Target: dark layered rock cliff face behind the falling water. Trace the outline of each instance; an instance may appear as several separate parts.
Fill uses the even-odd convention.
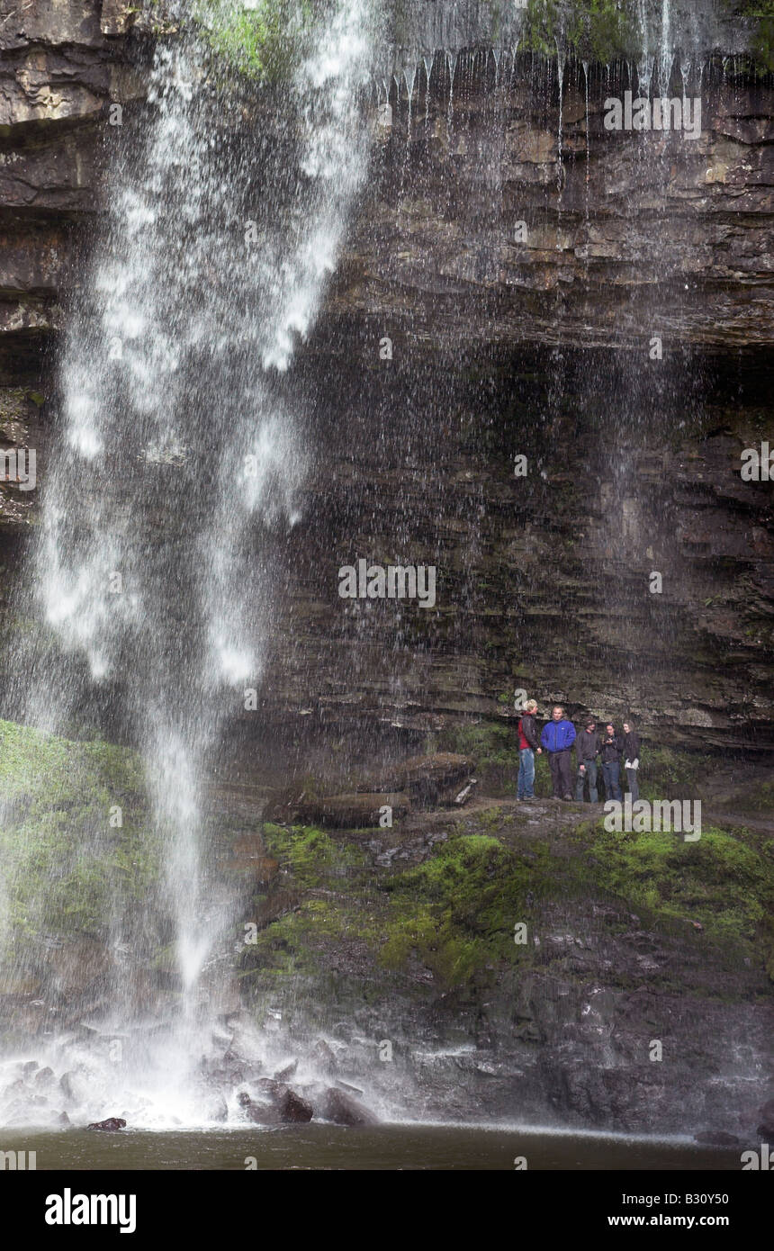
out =
[[[133,18],[83,0],[0,28],[1,429],[38,448],[40,485],[44,349],[99,229],[115,105],[143,108],[151,39]],[[321,728],[431,729],[508,714],[529,687],[634,712],[668,743],[760,751],[771,488],[739,469],[769,433],[770,88],[694,68],[689,139],[604,128],[605,98],[635,86],[625,68],[586,84],[570,64],[560,101],[555,65],[470,54],[451,95],[450,65],[425,63],[410,108],[406,79],[389,116],[383,100],[370,191],[293,384],[315,468],[274,553],[291,642],[263,721],[289,741],[309,709]],[[243,128],[270,124],[250,109]],[[335,403],[315,385],[331,362]],[[36,498],[3,488],[13,560]],[[434,564],[435,608],[340,599],[358,558]]]

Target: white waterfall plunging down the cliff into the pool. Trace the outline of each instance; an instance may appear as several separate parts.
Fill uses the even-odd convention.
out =
[[[261,534],[298,518],[304,455],[275,379],[314,325],[368,170],[370,38],[366,0],[339,0],[270,143],[260,125],[245,139],[189,33],[159,45],[149,113],[111,136],[108,220],[70,317],[30,560],[31,603],[70,663],[64,681],[39,667],[20,719],[61,734],[101,701],[139,746],[181,993],[175,1023],[138,1056],[141,1077],[129,1062],[119,1093],[110,1075],[101,1105],[91,1075],[93,1115],[123,1100],[153,1117],[161,1092],[161,1116],[196,1115],[199,983],[231,921],[208,873],[205,779],[261,681],[274,593]],[[124,918],[110,931],[121,1021]],[[56,1038],[48,1047],[53,1062]]]

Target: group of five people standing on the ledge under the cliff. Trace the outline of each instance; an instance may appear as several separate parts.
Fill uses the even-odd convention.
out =
[[[529,699],[524,716],[519,718],[519,782],[518,799],[534,799],[535,754],[548,754],[551,771],[554,798],[573,798],[571,748],[575,748],[575,801],[583,803],[586,782],[590,803],[598,802],[596,778],[601,776],[608,799],[621,799],[621,763],[626,773],[628,791],[631,803],[639,799],[636,771],[639,769],[640,741],[631,718],[624,722],[624,732],[619,734],[613,722],[608,722],[604,732],[596,729],[594,717],[586,717],[583,729],[576,731],[573,722],[565,717],[564,708],[555,704],[551,719],[538,733],[538,702]]]

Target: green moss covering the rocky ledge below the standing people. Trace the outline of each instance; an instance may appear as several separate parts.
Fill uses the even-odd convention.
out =
[[[656,931],[699,922],[703,941],[725,951],[731,966],[754,957],[774,971],[771,853],[763,836],[705,829],[699,843],[685,843],[671,833],[609,833],[601,822],[559,828],[560,837],[549,824],[549,837],[525,838],[518,816],[493,804],[460,814],[423,863],[374,877],[360,848],[344,839],[268,826],[264,837],[286,872],[313,884],[246,950],[241,976],[325,980],[335,956],[336,967],[366,980],[375,961],[409,986],[416,966],[449,990],[496,981],[539,958],[531,941],[514,942],[514,926],[525,922],[529,933],[556,899],[616,899]]]

